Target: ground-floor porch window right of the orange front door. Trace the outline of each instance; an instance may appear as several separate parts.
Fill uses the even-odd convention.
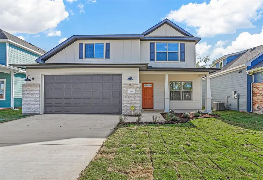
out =
[[[193,82],[170,82],[170,100],[192,100]]]

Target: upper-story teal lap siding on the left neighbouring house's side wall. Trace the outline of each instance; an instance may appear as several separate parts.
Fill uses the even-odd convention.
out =
[[[40,57],[20,47],[9,43],[8,48],[8,64],[32,64],[36,63],[36,59]]]

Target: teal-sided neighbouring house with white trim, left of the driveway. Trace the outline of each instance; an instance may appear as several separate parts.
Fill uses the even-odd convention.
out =
[[[46,51],[0,29],[0,108],[22,107],[26,70],[9,64],[36,63]]]

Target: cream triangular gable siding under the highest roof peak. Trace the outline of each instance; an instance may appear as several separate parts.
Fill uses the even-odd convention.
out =
[[[173,29],[168,24],[164,24],[155,31],[151,32],[147,36],[184,36],[180,32]]]

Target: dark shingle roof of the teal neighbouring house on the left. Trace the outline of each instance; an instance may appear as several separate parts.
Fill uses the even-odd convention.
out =
[[[39,52],[41,54],[45,54],[46,53],[46,51],[44,49],[41,49],[41,48],[39,48],[37,46],[34,46],[34,45],[32,45],[32,44],[20,39],[20,38],[17,38],[16,36],[11,35],[10,33],[5,32],[2,29],[0,29],[0,39],[9,39],[11,41],[14,41],[14,42],[16,42],[16,43],[18,43],[18,44],[20,44],[22,46],[25,46],[25,47],[27,47],[29,49],[32,49],[32,50],[34,50],[36,52]]]

